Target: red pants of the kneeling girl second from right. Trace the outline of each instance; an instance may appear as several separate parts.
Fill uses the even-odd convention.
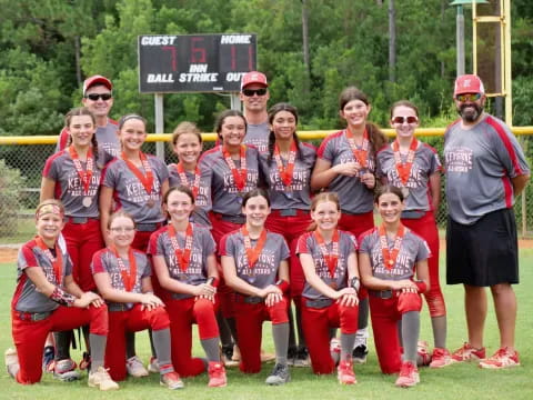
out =
[[[333,300],[330,307],[310,308],[302,298],[302,324],[314,373],[331,373],[335,364],[330,354],[330,328],[341,328],[341,333],[358,331],[359,307],[340,306]]]

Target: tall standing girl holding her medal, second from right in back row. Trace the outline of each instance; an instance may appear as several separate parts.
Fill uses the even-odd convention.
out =
[[[366,94],[358,88],[342,91],[339,113],[346,121],[346,129],[324,139],[311,177],[311,189],[328,188],[339,194],[342,211],[339,228],[355,237],[374,227],[375,153],[386,143],[380,129],[366,120],[371,109]],[[364,288],[360,300],[355,362],[366,359],[369,306]]]

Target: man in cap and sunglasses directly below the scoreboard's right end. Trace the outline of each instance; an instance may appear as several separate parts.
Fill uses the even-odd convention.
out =
[[[253,144],[261,154],[269,152],[269,113],[266,102],[270,99],[269,83],[264,73],[251,71],[241,80],[241,101],[244,104],[244,117],[248,130],[245,144]]]

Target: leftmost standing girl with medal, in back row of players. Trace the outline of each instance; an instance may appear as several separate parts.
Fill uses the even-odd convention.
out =
[[[100,231],[98,196],[107,152],[99,152],[95,119],[88,108],[70,110],[64,118],[69,133],[67,148],[50,157],[42,171],[40,200],[59,199],[64,204],[67,223],[62,236],[73,264],[74,281],[84,291],[95,288],[91,259],[103,247]],[[84,330],[86,341],[88,330]],[[70,358],[72,332],[57,332],[54,376],[61,380],[79,378],[76,362]]]

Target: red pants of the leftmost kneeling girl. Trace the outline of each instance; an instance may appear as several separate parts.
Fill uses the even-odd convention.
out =
[[[19,356],[20,370],[17,382],[23,384],[36,383],[42,374],[42,349],[50,332],[71,330],[90,324],[90,332],[99,336],[108,334],[108,308],[63,307],[53,311],[50,317],[41,321],[20,319],[18,311],[11,312],[13,342]]]

